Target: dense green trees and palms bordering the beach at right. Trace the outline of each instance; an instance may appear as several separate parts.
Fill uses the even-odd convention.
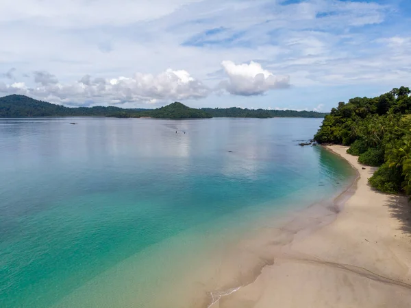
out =
[[[340,102],[314,136],[319,143],[350,145],[364,165],[379,167],[369,182],[387,193],[411,194],[411,97],[401,86],[379,97]]]

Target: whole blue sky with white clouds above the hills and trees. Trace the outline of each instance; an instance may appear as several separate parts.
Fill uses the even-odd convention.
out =
[[[411,86],[410,0],[2,0],[0,95],[328,111]]]

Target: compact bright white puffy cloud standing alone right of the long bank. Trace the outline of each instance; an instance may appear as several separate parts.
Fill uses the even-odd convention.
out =
[[[234,95],[262,95],[270,90],[290,86],[288,76],[275,76],[257,62],[235,64],[226,60],[221,65],[228,80],[221,82],[219,87]]]

